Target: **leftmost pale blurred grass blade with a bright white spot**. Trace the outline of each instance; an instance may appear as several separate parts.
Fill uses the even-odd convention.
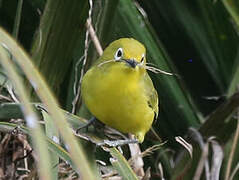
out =
[[[8,77],[12,80],[15,88],[18,92],[19,99],[23,102],[22,111],[27,121],[34,142],[35,149],[39,155],[39,175],[41,179],[52,179],[49,163],[49,154],[47,151],[46,142],[43,139],[43,133],[38,124],[38,117],[29,104],[29,97],[26,94],[26,90],[23,87],[23,82],[16,73],[16,69],[12,61],[6,55],[6,51],[0,46],[0,62],[4,69],[8,72]]]

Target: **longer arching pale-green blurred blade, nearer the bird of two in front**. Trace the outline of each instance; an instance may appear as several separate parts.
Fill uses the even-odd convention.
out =
[[[60,134],[63,137],[64,142],[69,147],[73,162],[78,168],[78,172],[82,179],[94,179],[94,175],[91,172],[88,161],[83,153],[80,144],[76,141],[76,138],[72,134],[72,129],[69,127],[64,115],[57,108],[57,102],[50,90],[46,86],[44,80],[40,76],[39,72],[34,67],[32,61],[25,53],[23,49],[2,29],[0,29],[0,41],[4,43],[16,57],[18,65],[22,68],[26,77],[34,87],[37,95],[41,101],[45,104],[47,110],[52,114],[52,119],[58,128]]]

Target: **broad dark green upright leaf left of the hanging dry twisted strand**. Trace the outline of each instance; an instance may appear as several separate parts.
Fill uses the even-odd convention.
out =
[[[75,48],[81,48],[77,41],[84,32],[87,10],[88,0],[46,2],[31,52],[56,97],[64,90],[60,85],[68,79]]]

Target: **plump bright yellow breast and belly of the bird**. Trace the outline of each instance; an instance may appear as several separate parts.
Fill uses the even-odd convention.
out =
[[[91,113],[110,127],[135,134],[140,142],[154,119],[143,73],[117,63],[110,68],[91,68],[82,81],[82,97]]]

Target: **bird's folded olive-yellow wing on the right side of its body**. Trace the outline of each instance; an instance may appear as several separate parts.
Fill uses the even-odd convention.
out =
[[[150,79],[148,73],[145,73],[144,84],[145,84],[144,88],[145,88],[145,93],[148,100],[148,105],[154,111],[155,119],[156,119],[158,117],[158,111],[159,111],[158,94],[157,94],[157,91],[154,89],[153,82]]]

